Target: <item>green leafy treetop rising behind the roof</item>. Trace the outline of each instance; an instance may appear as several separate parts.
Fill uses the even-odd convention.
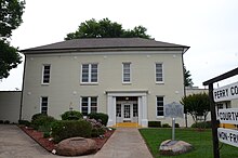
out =
[[[147,38],[147,29],[143,26],[135,26],[134,29],[124,30],[121,24],[110,22],[108,18],[103,18],[96,22],[94,18],[80,24],[78,30],[67,35],[65,40],[78,38]]]

